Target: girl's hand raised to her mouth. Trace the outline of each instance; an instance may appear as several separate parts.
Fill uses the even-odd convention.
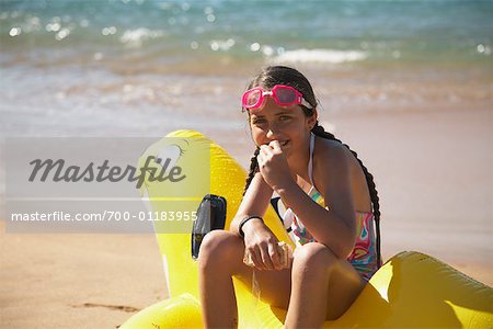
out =
[[[256,160],[262,177],[274,191],[293,182],[286,156],[283,154],[278,140],[262,145]]]

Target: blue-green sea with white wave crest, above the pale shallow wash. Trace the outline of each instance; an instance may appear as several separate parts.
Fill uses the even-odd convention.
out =
[[[0,41],[4,65],[117,60],[130,72],[197,59],[481,63],[492,14],[492,1],[2,0]]]

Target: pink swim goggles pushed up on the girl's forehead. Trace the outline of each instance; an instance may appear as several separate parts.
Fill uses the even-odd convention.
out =
[[[311,109],[301,92],[290,86],[276,84],[271,90],[264,90],[261,87],[252,88],[243,93],[241,103],[243,109],[253,110],[259,109],[264,103],[265,97],[272,97],[273,100],[280,106],[290,106],[301,104]]]

